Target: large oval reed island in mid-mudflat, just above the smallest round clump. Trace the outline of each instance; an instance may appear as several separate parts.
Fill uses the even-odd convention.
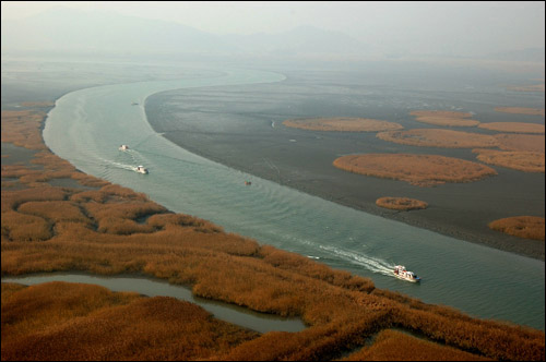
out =
[[[402,180],[419,186],[472,182],[497,174],[490,167],[438,155],[349,155],[335,159],[333,165],[349,172]]]

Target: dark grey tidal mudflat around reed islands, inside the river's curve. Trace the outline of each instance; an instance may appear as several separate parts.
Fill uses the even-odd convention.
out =
[[[439,155],[476,162],[476,154],[472,149],[399,145],[378,140],[373,132],[309,131],[282,124],[288,119],[346,117],[397,122],[406,130],[438,129],[417,122],[411,114],[423,109],[470,112],[472,119],[484,123],[517,119],[544,124],[539,114],[495,110],[508,104],[543,107],[544,93],[507,92],[499,86],[506,80],[476,74],[442,74],[432,80],[434,74],[427,77],[424,72],[412,76],[402,71],[390,76],[366,71],[283,72],[287,79],[273,84],[153,95],[146,100],[147,120],[166,138],[232,168],[366,213],[544,260],[543,241],[514,238],[487,227],[510,216],[544,217],[543,172],[494,167],[498,174],[480,181],[419,188],[339,170],[332,162],[341,156],[367,153]],[[476,126],[460,126],[458,131],[498,134]],[[422,200],[429,207],[411,213],[385,210],[376,205],[384,195]]]

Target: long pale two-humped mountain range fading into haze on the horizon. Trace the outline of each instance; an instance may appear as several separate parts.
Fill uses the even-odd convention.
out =
[[[363,56],[369,47],[339,32],[312,26],[278,34],[221,36],[178,23],[105,11],[55,8],[20,20],[2,21],[2,53],[199,53],[216,56]]]

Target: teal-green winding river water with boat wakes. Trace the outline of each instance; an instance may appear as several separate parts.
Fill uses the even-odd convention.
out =
[[[174,212],[370,277],[379,288],[544,329],[544,262],[357,212],[213,162],[156,134],[142,108],[157,92],[283,79],[230,70],[215,77],[73,92],[50,111],[44,138],[82,171],[144,192]],[[121,144],[131,149],[118,150]],[[136,173],[139,165],[150,173]],[[395,264],[417,273],[420,285],[395,279]]]

